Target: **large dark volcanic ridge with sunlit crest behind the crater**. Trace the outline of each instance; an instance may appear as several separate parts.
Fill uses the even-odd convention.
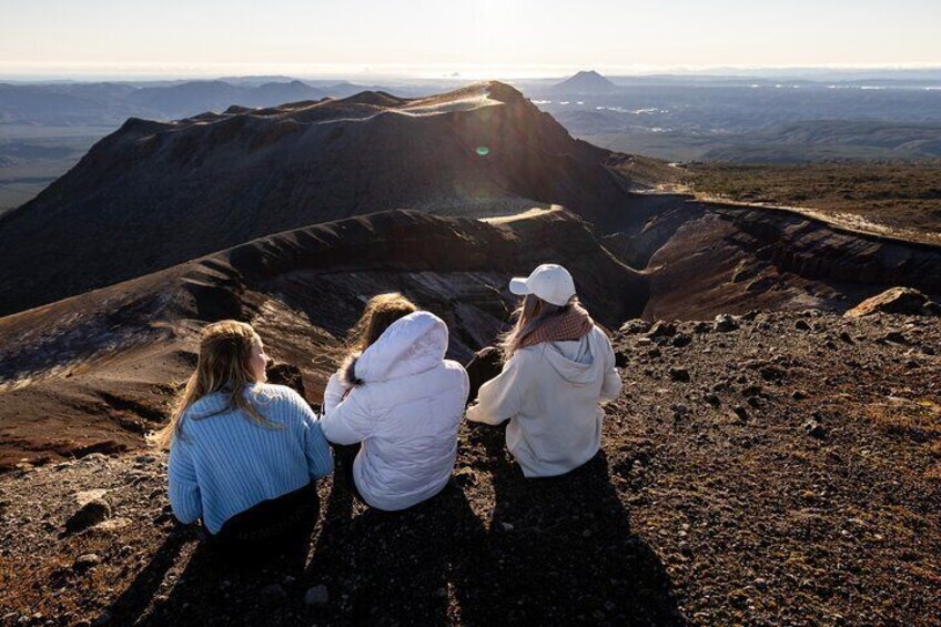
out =
[[[191,89],[233,93],[204,83],[180,102]],[[0,311],[389,208],[480,215],[558,203],[595,219],[627,202],[609,154],[497,82],[132,119],[0,218]]]

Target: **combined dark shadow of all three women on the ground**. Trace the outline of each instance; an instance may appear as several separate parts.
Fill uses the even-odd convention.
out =
[[[408,512],[366,508],[337,473],[321,486],[328,494],[306,566],[273,558],[234,568],[200,545],[152,603],[192,539],[171,535],[110,614],[120,624],[203,626],[685,623],[664,565],[630,532],[604,454],[534,481],[513,464],[502,428],[471,426],[468,439],[462,455],[475,478]],[[307,606],[316,585],[330,599]]]

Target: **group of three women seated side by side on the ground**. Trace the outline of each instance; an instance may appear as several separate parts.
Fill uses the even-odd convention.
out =
[[[515,324],[478,354],[502,358],[502,371],[469,407],[467,372],[445,358],[447,326],[399,294],[367,303],[321,415],[290,387],[266,383],[269,358],[249,324],[208,325],[196,370],[159,434],[175,516],[202,519],[225,553],[293,546],[318,515],[316,481],[333,472],[327,442],[363,503],[406,509],[447,485],[465,416],[509,421],[506,445],[526,477],[585,464],[600,446],[599,404],[621,387],[611,344],[564,267],[540,265],[509,289],[523,297]]]

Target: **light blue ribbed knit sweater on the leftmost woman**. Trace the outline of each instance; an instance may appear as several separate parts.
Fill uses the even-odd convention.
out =
[[[171,444],[168,469],[170,505],[182,523],[202,518],[219,533],[235,514],[333,471],[321,426],[300,394],[255,384],[245,395],[282,428],[261,426],[240,411],[206,416],[225,406],[223,394],[193,403]]]

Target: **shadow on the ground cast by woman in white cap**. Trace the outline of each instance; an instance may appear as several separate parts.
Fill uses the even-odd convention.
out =
[[[525,478],[505,427],[471,425],[493,482],[486,542],[452,574],[465,625],[686,625],[657,554],[599,452],[570,473]]]

